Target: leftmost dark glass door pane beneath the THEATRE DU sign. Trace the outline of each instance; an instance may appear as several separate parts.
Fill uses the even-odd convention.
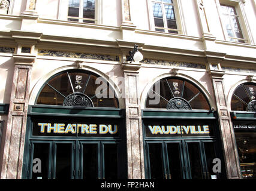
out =
[[[49,143],[34,143],[34,159],[39,159],[40,162],[35,162],[32,166],[35,170],[40,170],[41,165],[41,172],[35,172],[32,169],[32,179],[47,179],[49,174],[49,153],[50,153],[50,144]],[[35,166],[34,166],[35,165]]]

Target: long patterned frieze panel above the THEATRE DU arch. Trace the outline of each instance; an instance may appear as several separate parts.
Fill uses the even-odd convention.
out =
[[[109,60],[120,61],[119,56],[110,56],[103,54],[89,54],[89,53],[71,53],[66,51],[52,51],[52,50],[38,50],[38,56],[53,56],[53,57],[68,57],[68,58],[85,58],[92,60]]]

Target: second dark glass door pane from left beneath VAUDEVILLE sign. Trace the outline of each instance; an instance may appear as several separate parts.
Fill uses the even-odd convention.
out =
[[[169,162],[169,178],[181,179],[182,178],[182,164],[180,158],[180,146],[179,143],[168,143],[168,162]]]

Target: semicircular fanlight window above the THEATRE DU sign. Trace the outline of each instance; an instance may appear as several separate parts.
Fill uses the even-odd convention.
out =
[[[95,73],[81,72],[81,70],[68,70],[50,78],[44,84],[36,103],[61,106],[119,107],[115,91],[108,82]]]

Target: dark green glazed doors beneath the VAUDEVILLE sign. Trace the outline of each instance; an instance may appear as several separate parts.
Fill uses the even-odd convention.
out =
[[[146,141],[147,175],[152,179],[214,178],[214,141]]]

